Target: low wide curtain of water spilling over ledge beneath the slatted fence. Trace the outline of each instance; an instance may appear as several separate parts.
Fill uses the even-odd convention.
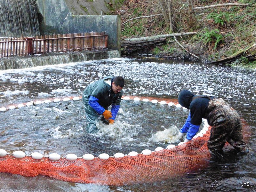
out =
[[[99,52],[74,52],[66,54],[52,54],[48,56],[20,57],[0,60],[0,70],[30,68],[36,66],[57,65],[72,62],[89,60],[101,60],[108,58],[118,58],[120,54],[117,50]]]

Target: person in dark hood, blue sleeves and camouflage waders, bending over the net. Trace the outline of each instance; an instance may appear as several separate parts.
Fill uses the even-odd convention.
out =
[[[207,143],[211,151],[220,151],[228,141],[238,152],[248,152],[249,148],[242,135],[242,123],[238,113],[221,98],[194,95],[188,90],[180,92],[178,101],[190,110],[186,123],[180,129],[181,139],[187,133],[185,142],[191,140],[199,130],[202,118],[212,126]]]

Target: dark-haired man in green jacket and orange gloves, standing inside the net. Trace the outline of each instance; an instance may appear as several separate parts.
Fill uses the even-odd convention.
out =
[[[83,104],[86,115],[86,131],[97,131],[96,122],[99,117],[113,124],[123,95],[124,78],[121,76],[108,76],[94,81],[85,88],[83,93]],[[111,111],[108,107],[111,106]]]

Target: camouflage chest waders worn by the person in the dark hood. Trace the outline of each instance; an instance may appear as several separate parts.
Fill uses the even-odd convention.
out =
[[[238,152],[245,152],[249,149],[243,140],[242,123],[236,110],[221,98],[202,97],[207,97],[210,100],[207,113],[204,114],[204,118],[212,126],[208,148],[211,151],[219,151],[228,142]]]

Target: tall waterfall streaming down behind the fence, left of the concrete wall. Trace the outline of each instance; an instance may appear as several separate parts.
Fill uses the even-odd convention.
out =
[[[40,35],[35,0],[0,0],[0,36]]]

